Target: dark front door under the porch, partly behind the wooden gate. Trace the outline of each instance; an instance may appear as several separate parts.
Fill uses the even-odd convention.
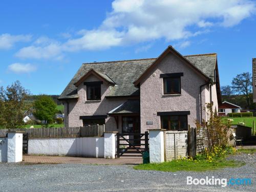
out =
[[[138,134],[130,135],[129,139],[132,143],[140,145],[140,116],[123,116],[122,117],[122,133]]]

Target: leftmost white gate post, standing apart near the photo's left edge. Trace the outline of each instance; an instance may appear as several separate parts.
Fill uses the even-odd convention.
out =
[[[23,133],[20,131],[8,132],[7,162],[16,163],[22,161]]]

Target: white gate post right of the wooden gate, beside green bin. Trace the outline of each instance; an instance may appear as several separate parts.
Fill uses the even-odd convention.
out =
[[[164,131],[148,130],[150,132],[150,162],[164,162]]]

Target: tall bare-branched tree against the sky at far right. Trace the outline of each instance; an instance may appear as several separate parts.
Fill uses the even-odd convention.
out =
[[[246,97],[247,108],[250,108],[250,97],[252,88],[252,76],[249,72],[238,74],[232,80],[232,89],[235,93],[243,94]]]

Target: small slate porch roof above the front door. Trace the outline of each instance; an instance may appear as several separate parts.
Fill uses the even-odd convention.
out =
[[[127,100],[108,113],[108,115],[114,114],[127,114],[127,113],[140,113],[140,101],[139,100]]]

